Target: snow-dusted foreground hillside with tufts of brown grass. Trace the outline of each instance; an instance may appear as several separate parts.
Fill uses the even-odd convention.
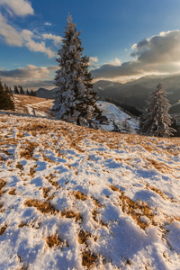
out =
[[[0,269],[180,269],[180,139],[0,115]]]

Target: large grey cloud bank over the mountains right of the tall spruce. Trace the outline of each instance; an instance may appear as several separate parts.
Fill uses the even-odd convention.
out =
[[[180,31],[164,31],[131,47],[129,62],[105,64],[92,71],[94,78],[172,74],[180,71]],[[121,63],[121,62],[120,62]]]

